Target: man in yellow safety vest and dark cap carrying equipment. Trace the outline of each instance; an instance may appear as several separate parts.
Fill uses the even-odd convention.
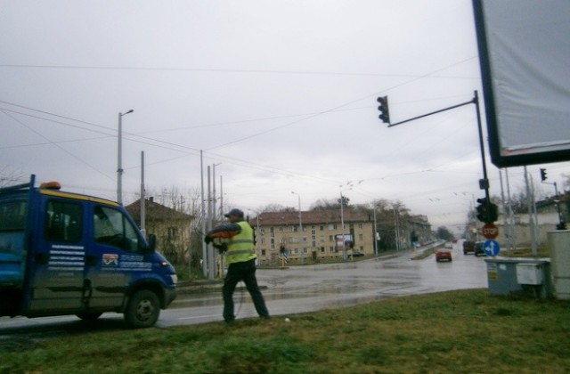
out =
[[[256,235],[253,227],[244,220],[240,209],[232,209],[225,215],[229,224],[221,224],[206,234],[204,241],[210,242],[221,239],[224,243],[215,243],[215,247],[225,252],[225,263],[228,272],[225,274],[224,288],[224,321],[235,320],[233,314],[233,291],[240,280],[246,284],[249,295],[256,306],[257,314],[268,319],[269,312],[265,306],[265,299],[259,290],[256,280]]]

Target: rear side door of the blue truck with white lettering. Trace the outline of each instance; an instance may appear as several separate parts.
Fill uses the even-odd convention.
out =
[[[75,313],[85,301],[85,204],[41,195],[28,315]]]

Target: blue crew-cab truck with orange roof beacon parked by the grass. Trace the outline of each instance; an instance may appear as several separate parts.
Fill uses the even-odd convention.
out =
[[[176,272],[117,202],[59,183],[0,188],[0,316],[123,313],[153,326],[176,296]]]

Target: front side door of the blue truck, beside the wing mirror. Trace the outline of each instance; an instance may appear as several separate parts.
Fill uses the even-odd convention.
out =
[[[122,210],[94,204],[93,244],[87,251],[85,278],[93,289],[91,307],[121,306],[129,284],[151,272],[141,244],[138,230]]]

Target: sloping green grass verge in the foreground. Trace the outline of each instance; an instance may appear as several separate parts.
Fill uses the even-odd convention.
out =
[[[398,297],[290,322],[275,316],[12,346],[0,349],[0,372],[563,373],[569,307],[487,289]]]

